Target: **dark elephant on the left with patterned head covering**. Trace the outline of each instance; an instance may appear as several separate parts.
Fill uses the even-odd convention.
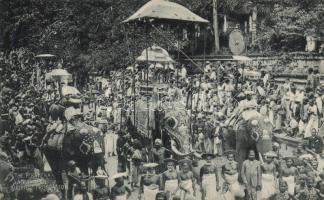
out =
[[[104,145],[102,133],[98,128],[81,122],[73,127],[65,121],[65,108],[61,105],[50,107],[53,120],[61,119],[62,126],[54,132],[48,132],[43,138],[42,150],[52,169],[53,176],[60,188],[64,185],[62,173],[67,172],[67,163],[74,160],[81,173],[88,175],[89,167],[96,172],[98,166],[104,166]],[[64,190],[61,190],[64,194]]]

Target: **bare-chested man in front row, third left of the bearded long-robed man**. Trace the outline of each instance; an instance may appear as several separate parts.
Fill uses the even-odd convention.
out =
[[[193,172],[190,170],[191,160],[182,159],[179,161],[180,171],[178,173],[180,199],[194,200],[196,199],[195,178]]]

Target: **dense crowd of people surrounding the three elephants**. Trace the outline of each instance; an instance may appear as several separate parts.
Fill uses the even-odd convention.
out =
[[[103,162],[90,173],[95,180],[91,190],[87,182],[78,182],[85,176],[80,163],[72,159],[67,162],[69,198],[121,200],[134,194],[144,200],[323,198],[320,130],[324,91],[316,67],[309,67],[306,83],[298,85],[289,78],[283,84],[277,83],[274,74],[263,70],[262,65],[256,67],[260,75],[251,80],[242,76],[248,65],[236,62],[207,61],[198,75],[188,75],[184,65],[151,64],[147,69],[136,65],[111,73],[100,87],[97,82],[91,83],[86,92],[89,104],[82,103],[82,112],[66,108],[68,112],[53,118],[51,106],[59,98],[48,98],[52,90],[45,87],[46,71],[40,65],[24,50],[0,58],[0,157],[14,171],[1,180],[3,195],[8,195],[5,185],[13,184],[15,171],[22,166],[32,166],[34,177],[52,171],[43,154],[44,138],[53,133],[68,134],[89,124],[96,126],[94,132],[100,132],[102,137],[103,150],[95,145],[91,148],[98,155],[95,159],[101,162],[103,158]],[[167,93],[153,109],[163,110],[167,102],[185,105],[190,116],[187,134],[193,136],[191,148],[200,157],[190,154],[176,159],[177,155],[164,146],[162,137],[151,135],[147,140],[130,123],[141,86],[157,83],[167,85]],[[287,152],[280,148],[283,144],[273,141],[272,151],[263,157],[251,150],[242,165],[236,162],[235,149],[226,147],[223,130],[233,125],[233,116],[247,110],[256,110],[269,119],[274,134],[300,141],[296,151]],[[87,133],[84,129],[76,132]],[[152,140],[153,145],[147,142]],[[80,145],[82,151],[87,148],[85,143]],[[117,156],[116,174],[105,167],[111,156]],[[110,175],[114,180],[111,187],[107,181]],[[48,200],[61,196],[53,192],[27,192],[9,196]]]

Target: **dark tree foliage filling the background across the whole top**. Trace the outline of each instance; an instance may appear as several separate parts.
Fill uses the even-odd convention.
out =
[[[35,53],[53,53],[65,67],[76,71],[107,72],[133,63],[135,56],[156,43],[170,51],[179,40],[177,27],[163,34],[144,25],[121,22],[148,0],[0,0],[0,25],[4,48],[28,48]],[[198,15],[212,20],[212,1],[175,0]],[[305,33],[323,36],[322,0],[221,0],[222,12],[258,8],[255,46],[260,51],[300,50]],[[2,21],[1,21],[2,20]],[[165,35],[165,36],[161,36]],[[170,41],[165,38],[169,38]],[[179,40],[185,48],[188,41]],[[303,39],[304,41],[304,39]]]

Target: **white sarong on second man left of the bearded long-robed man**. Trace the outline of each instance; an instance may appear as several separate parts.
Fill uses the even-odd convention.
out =
[[[216,191],[216,175],[204,174],[202,178],[202,188],[205,191],[205,200],[220,200],[221,195]]]

